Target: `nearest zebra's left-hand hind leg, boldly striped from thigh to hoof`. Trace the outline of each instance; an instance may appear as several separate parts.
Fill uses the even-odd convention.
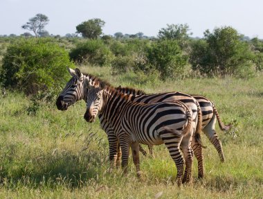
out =
[[[174,133],[174,131],[163,130],[163,132],[159,132],[161,139],[163,139],[163,143],[169,150],[169,153],[174,160],[174,163],[177,168],[177,175],[176,181],[178,186],[182,183],[182,176],[183,176],[183,166],[184,166],[184,159],[183,155],[181,155],[180,151],[180,144],[183,139],[182,135],[178,135]]]

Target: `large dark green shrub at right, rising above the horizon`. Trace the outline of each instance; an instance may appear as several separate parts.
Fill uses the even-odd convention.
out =
[[[253,74],[253,53],[234,28],[215,28],[213,33],[206,31],[204,36],[205,42],[200,40],[192,46],[190,63],[193,69],[209,75]]]

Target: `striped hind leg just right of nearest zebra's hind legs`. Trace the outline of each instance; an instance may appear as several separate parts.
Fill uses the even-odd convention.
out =
[[[198,178],[203,178],[203,148],[197,143],[196,139],[192,139],[192,150],[194,150],[194,156],[197,157],[198,164]]]

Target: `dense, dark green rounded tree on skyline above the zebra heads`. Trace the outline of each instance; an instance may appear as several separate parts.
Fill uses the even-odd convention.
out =
[[[89,19],[76,26],[76,33],[81,33],[82,37],[97,39],[102,34],[102,26],[104,25],[105,21],[101,19]]]

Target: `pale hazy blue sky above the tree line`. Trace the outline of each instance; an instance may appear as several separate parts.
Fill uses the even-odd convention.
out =
[[[0,35],[28,32],[21,26],[37,13],[48,17],[45,29],[53,35],[75,33],[78,24],[100,18],[106,22],[106,35],[156,36],[167,24],[188,24],[193,37],[203,37],[206,29],[232,26],[263,39],[262,0],[0,0]]]

